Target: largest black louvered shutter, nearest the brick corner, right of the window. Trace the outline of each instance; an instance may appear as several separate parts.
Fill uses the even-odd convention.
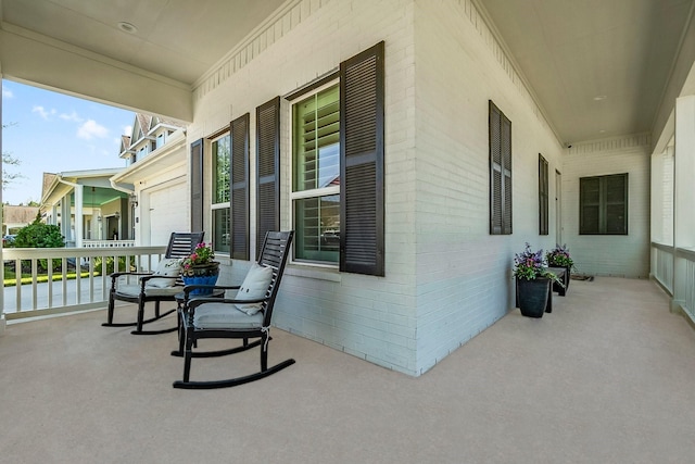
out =
[[[340,271],[383,276],[383,42],[340,64]]]

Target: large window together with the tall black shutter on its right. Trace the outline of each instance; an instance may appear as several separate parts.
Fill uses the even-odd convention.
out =
[[[384,274],[383,91],[380,42],[292,96],[295,261]]]

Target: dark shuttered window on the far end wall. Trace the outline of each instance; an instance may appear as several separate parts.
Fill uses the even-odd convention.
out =
[[[579,179],[579,233],[628,235],[628,173]]]

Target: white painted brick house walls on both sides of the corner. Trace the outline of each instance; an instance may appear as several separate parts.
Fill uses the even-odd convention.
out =
[[[278,327],[420,375],[513,306],[511,261],[538,235],[538,153],[561,148],[469,0],[298,0],[256,29],[194,90],[189,145],[276,95],[386,42],[386,277],[290,263]],[[488,101],[513,123],[514,235],[489,234]],[[280,221],[291,228],[290,102],[280,108]],[[255,179],[255,117],[250,122]],[[251,185],[251,218],[255,192]],[[554,184],[551,184],[551,197]],[[553,198],[553,197],[552,197]],[[549,224],[555,224],[551,210]],[[205,214],[210,230],[210,212]],[[252,240],[255,240],[253,230]],[[251,250],[255,243],[251,243]],[[239,281],[248,263],[225,278]]]

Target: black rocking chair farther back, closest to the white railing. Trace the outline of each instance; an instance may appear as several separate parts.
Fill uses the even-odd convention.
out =
[[[205,233],[172,233],[169,244],[166,248],[164,260],[160,262],[160,268],[154,273],[113,273],[111,274],[111,291],[109,292],[108,318],[104,327],[132,327],[136,335],[153,335],[174,331],[177,327],[164,330],[142,330],[142,325],[157,321],[174,311],[160,313],[160,302],[176,301],[175,296],[184,290],[179,276],[178,260],[181,260],[195,250],[198,243],[203,241]],[[168,267],[168,268],[167,268]],[[118,280],[124,276],[140,276],[137,285],[119,285]],[[113,313],[115,301],[127,301],[138,305],[138,319],[135,323],[114,323]],[[154,317],[144,318],[144,303],[154,302]]]

